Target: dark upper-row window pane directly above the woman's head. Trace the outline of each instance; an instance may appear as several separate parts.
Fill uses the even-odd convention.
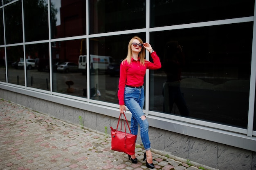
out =
[[[146,0],[90,0],[90,34],[146,27]]]

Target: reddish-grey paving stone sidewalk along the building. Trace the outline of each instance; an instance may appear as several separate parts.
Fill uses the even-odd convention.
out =
[[[1,170],[145,170],[145,150],[137,164],[111,150],[108,134],[91,132],[47,114],[0,100]],[[166,157],[167,156],[167,157]],[[198,170],[153,150],[155,170]],[[207,169],[207,168],[202,168]]]

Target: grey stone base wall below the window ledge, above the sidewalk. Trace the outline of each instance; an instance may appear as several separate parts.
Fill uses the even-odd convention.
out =
[[[0,98],[86,128],[110,134],[118,119],[51,101],[0,89]],[[79,119],[80,118],[82,119]],[[107,127],[107,128],[105,128]],[[189,159],[220,170],[256,170],[256,152],[178,134],[162,129],[149,129],[151,148],[175,157]],[[138,135],[138,144],[141,144]],[[255,146],[256,147],[256,146]]]

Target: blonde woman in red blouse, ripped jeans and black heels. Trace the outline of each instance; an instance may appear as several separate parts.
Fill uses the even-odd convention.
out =
[[[153,58],[153,63],[145,60],[145,49],[150,52]],[[128,44],[128,54],[120,65],[119,79],[119,110],[120,113],[126,112],[126,107],[132,113],[130,130],[132,134],[138,134],[138,124],[140,127],[141,141],[146,152],[146,166],[154,168],[152,154],[150,151],[150,141],[148,136],[148,121],[142,112],[144,106],[144,76],[146,69],[159,69],[161,63],[156,52],[153,51],[151,45],[147,42],[143,43],[141,38],[135,36]],[[128,155],[132,163],[137,163],[137,158],[134,155]]]

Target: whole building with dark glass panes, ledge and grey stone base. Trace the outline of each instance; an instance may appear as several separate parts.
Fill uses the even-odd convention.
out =
[[[119,71],[102,74],[94,67],[100,63],[87,57],[85,74],[62,74],[57,63],[111,56],[118,70],[137,35],[150,42],[163,66],[147,72],[144,83],[152,148],[213,168],[255,170],[255,0],[43,1],[1,1],[0,98],[76,125],[81,116],[86,128],[107,127],[110,134],[119,116]],[[177,75],[189,116],[171,109],[164,92],[175,72],[167,52],[177,49],[173,42],[184,54]],[[43,69],[12,65],[27,58],[44,59]],[[68,81],[74,85],[67,89]],[[130,120],[129,111],[126,116]]]

